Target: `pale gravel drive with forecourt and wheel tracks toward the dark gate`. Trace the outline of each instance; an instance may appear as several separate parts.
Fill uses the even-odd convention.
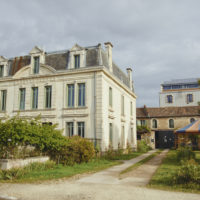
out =
[[[138,161],[138,158],[126,161],[121,166],[130,166]],[[157,161],[156,158],[158,159]],[[162,159],[162,156],[156,158],[153,159],[154,161],[151,164],[143,165],[149,168],[151,173],[155,170],[155,167],[152,167],[154,162],[157,164]],[[136,187],[132,183],[133,179],[131,181],[127,179],[129,176],[136,178],[134,174],[129,174],[128,177],[124,176],[122,180],[118,179],[119,170],[122,168],[115,166],[102,172],[86,175],[86,177],[82,177],[79,180],[58,180],[42,184],[0,184],[0,195],[14,196],[20,200],[111,200],[113,198],[115,200],[200,199],[200,195],[198,194]],[[139,168],[137,169],[138,173],[143,174],[144,171],[142,170],[144,169],[142,169],[142,166]],[[103,178],[101,178],[101,175]]]

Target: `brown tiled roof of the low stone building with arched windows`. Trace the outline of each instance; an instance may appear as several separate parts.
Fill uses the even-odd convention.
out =
[[[187,117],[200,116],[200,106],[185,106],[185,107],[162,107],[137,108],[137,118],[161,118],[161,117]]]

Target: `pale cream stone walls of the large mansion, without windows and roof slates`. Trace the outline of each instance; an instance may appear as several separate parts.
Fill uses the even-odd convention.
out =
[[[109,50],[103,51],[107,57],[109,57],[107,53],[112,51],[109,44],[107,43]],[[97,47],[97,52],[100,52],[98,48],[101,47]],[[77,135],[78,122],[84,122],[84,137],[96,141],[102,151],[107,149],[109,144],[116,149],[118,143],[121,145],[124,143],[122,146],[125,148],[127,142],[136,148],[136,96],[132,90],[132,78],[130,78],[132,73],[129,71],[129,77],[126,75],[130,80],[130,87],[128,87],[114,76],[112,66],[109,67],[112,65],[110,61],[108,67],[104,66],[103,62],[101,65],[88,67],[86,63],[89,62],[89,58],[87,57],[86,60],[86,51],[87,49],[75,45],[68,52],[67,70],[57,70],[46,63],[44,51],[36,47],[29,54],[30,63],[21,67],[13,75],[9,75],[7,60],[0,57],[0,65],[4,66],[4,76],[0,78],[0,92],[6,90],[6,108],[0,111],[0,118],[12,117],[17,113],[24,118],[41,115],[43,122],[57,123],[58,128],[63,130],[63,135],[67,134],[67,122],[73,122],[73,135]],[[73,68],[74,55],[80,55],[78,69]],[[33,73],[35,56],[40,58],[38,74]],[[56,62],[54,64],[56,65]],[[85,85],[83,106],[78,105],[80,83]],[[69,84],[74,85],[73,107],[67,104]],[[50,108],[45,107],[46,86],[52,88]],[[37,109],[32,108],[33,87],[38,88]],[[19,106],[20,88],[26,89],[23,110]],[[112,88],[112,106],[109,105],[109,88]],[[124,113],[121,107],[122,96],[124,96]],[[112,124],[112,137],[110,137],[110,124]]]

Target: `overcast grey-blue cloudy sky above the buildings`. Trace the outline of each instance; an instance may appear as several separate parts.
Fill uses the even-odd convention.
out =
[[[159,106],[160,84],[197,78],[199,0],[0,0],[0,55],[112,42],[113,59],[133,69],[137,106]]]

